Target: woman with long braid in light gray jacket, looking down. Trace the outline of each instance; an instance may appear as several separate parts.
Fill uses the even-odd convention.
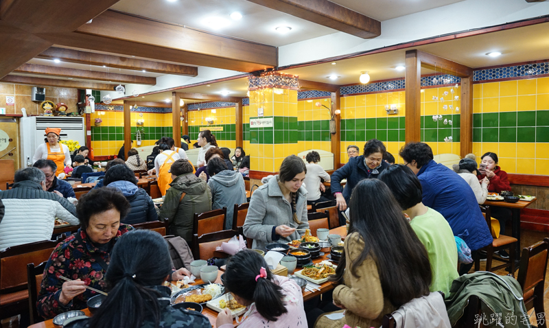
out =
[[[252,248],[291,242],[300,238],[296,229],[309,229],[307,190],[302,186],[306,173],[303,160],[290,155],[280,173],[264,178],[264,185],[254,191],[243,227],[244,235],[253,239]]]

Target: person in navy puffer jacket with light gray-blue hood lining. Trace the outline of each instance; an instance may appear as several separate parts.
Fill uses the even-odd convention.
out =
[[[130,202],[130,212],[122,218],[124,224],[137,224],[159,220],[152,199],[143,188],[137,187],[137,178],[126,165],[115,165],[105,174],[104,185],[122,191]]]

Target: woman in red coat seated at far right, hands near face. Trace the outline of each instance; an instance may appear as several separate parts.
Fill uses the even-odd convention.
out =
[[[497,192],[498,194],[502,191],[510,191],[511,184],[507,178],[507,172],[502,171],[498,166],[498,155],[493,152],[487,152],[480,157],[480,160],[480,166],[478,167],[480,174],[478,174],[477,178],[478,180],[482,180],[484,177],[487,177],[490,180],[488,191]],[[505,224],[513,218],[511,210],[504,207],[492,206],[491,215],[500,221],[500,234],[505,235]],[[505,250],[500,250],[499,255],[504,259],[509,258]]]

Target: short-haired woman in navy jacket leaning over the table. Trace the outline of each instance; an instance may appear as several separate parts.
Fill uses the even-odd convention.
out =
[[[364,144],[364,154],[349,158],[347,164],[331,175],[331,192],[340,211],[347,209],[351,192],[360,180],[375,179],[389,166],[383,160],[384,154],[385,145],[377,139],[371,139]],[[340,184],[343,179],[347,179],[345,189]]]

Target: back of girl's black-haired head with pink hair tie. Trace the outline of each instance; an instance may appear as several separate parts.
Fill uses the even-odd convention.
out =
[[[266,278],[256,277],[266,269]],[[237,294],[247,301],[255,302],[257,312],[270,321],[288,312],[282,301],[282,288],[272,282],[265,259],[253,250],[242,250],[229,259],[223,284],[229,292]]]

